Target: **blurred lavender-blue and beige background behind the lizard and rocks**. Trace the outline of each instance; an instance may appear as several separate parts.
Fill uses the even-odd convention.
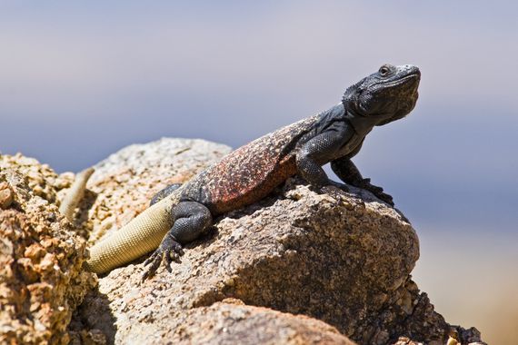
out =
[[[0,151],[65,172],[163,136],[238,147],[417,64],[415,110],[355,162],[413,222],[436,310],[517,343],[517,4],[0,0]]]

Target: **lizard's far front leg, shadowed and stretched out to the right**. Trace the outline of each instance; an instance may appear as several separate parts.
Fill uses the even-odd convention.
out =
[[[382,187],[371,184],[371,179],[364,179],[356,165],[348,157],[342,157],[331,162],[331,169],[336,173],[336,176],[345,183],[351,184],[354,187],[362,188],[372,192],[378,199],[393,206],[393,198],[391,195],[384,192]]]

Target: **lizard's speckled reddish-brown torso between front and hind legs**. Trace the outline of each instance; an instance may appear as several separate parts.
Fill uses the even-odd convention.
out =
[[[183,199],[204,203],[213,214],[263,199],[296,173],[295,146],[318,115],[284,126],[227,154],[188,182]]]

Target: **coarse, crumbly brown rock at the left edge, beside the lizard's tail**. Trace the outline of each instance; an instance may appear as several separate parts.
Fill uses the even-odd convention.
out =
[[[67,343],[95,276],[85,241],[57,210],[67,181],[35,159],[0,155],[0,343]]]

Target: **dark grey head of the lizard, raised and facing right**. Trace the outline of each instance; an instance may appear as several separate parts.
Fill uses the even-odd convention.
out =
[[[391,123],[413,110],[420,79],[419,68],[412,64],[384,64],[378,72],[349,87],[343,103],[354,113],[379,118],[375,125]]]

